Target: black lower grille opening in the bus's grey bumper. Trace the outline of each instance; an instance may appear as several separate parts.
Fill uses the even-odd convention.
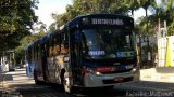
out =
[[[115,81],[114,79],[103,80],[103,83],[104,83],[104,84],[114,84],[114,83],[123,83],[123,82],[128,82],[128,81],[133,81],[133,77],[124,78],[124,80],[123,80],[122,82]]]

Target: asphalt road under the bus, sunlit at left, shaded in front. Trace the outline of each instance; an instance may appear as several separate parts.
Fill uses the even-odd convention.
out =
[[[17,69],[5,73],[5,89],[9,94],[17,94],[22,97],[173,97],[174,83],[140,81],[137,83],[119,84],[114,89],[88,88],[74,94],[65,94],[57,84],[35,85],[33,79],[28,79],[25,69]],[[9,96],[10,97],[10,96]]]

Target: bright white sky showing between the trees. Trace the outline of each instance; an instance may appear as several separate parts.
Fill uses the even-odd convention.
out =
[[[39,0],[38,10],[35,10],[35,14],[39,16],[39,20],[44,22],[48,28],[51,25],[51,23],[54,22],[51,17],[51,13],[64,13],[66,5],[71,3],[72,0]],[[145,16],[144,9],[140,9],[135,12],[135,20],[139,16]]]

